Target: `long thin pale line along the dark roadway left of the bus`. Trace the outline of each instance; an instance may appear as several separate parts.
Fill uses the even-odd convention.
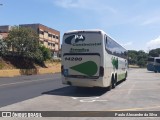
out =
[[[38,82],[38,81],[50,80],[50,79],[53,79],[53,78],[45,78],[45,79],[27,80],[27,81],[22,81],[22,82],[7,83],[7,84],[0,85],[0,87],[2,87],[2,86],[8,86],[8,85],[21,84],[21,83]]]

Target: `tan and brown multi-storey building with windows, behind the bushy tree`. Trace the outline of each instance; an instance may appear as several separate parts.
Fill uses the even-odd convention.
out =
[[[37,32],[39,35],[39,42],[45,47],[49,48],[54,54],[58,56],[60,50],[60,32],[44,26],[42,24],[21,24],[21,27],[29,27]]]

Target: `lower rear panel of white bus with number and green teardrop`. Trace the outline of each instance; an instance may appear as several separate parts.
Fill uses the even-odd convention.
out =
[[[63,75],[76,78],[99,78],[100,55],[64,55]]]

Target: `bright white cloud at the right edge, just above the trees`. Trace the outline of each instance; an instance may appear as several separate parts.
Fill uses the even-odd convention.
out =
[[[146,43],[148,49],[160,48],[160,36]]]

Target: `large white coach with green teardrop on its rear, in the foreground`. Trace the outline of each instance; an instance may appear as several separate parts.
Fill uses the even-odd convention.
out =
[[[127,78],[127,50],[102,30],[64,33],[61,57],[63,84],[111,89]]]

